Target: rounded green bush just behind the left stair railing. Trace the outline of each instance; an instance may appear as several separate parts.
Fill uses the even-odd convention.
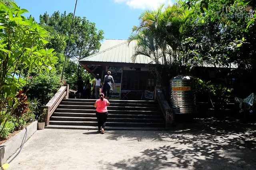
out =
[[[61,86],[60,75],[56,73],[42,73],[36,76],[28,90],[29,98],[37,98],[42,105],[46,105]]]

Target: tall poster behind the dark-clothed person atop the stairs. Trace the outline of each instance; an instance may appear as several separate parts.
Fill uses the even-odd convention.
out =
[[[114,79],[114,84],[115,84],[114,90],[110,90],[109,98],[112,99],[112,100],[119,100],[120,99],[122,70],[123,70],[122,67],[106,66],[106,72],[104,74],[104,77],[105,77],[105,75],[107,75],[107,72],[110,71],[111,76]]]

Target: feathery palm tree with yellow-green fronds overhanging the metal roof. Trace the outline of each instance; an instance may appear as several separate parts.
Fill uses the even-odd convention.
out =
[[[157,10],[147,10],[140,17],[140,25],[134,26],[128,41],[137,41],[135,61],[138,55],[146,55],[156,64],[172,64],[180,57],[181,43],[188,30],[188,25],[194,21],[193,12],[184,10],[180,4],[174,4],[164,9],[164,4]]]

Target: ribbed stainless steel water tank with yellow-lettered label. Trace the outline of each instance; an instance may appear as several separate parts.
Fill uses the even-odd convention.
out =
[[[196,79],[180,75],[170,80],[171,104],[177,114],[195,113]]]

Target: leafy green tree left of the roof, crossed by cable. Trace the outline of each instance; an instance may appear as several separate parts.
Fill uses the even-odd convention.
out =
[[[70,84],[71,89],[76,89],[76,82],[78,76],[82,76],[83,80],[92,79],[92,76],[81,66],[78,68],[79,59],[92,55],[100,49],[100,41],[102,41],[103,31],[97,30],[95,23],[86,20],[85,17],[74,18],[73,30],[70,32],[70,26],[72,24],[73,14],[60,14],[60,12],[54,12],[51,16],[44,13],[40,15],[40,25],[44,27],[51,36],[48,39],[50,42],[47,44],[48,48],[56,49],[56,56],[59,61],[56,63],[57,73],[61,74],[64,66],[64,51],[70,37],[70,47],[67,51],[69,58],[66,61],[66,68],[64,69],[64,81]]]

